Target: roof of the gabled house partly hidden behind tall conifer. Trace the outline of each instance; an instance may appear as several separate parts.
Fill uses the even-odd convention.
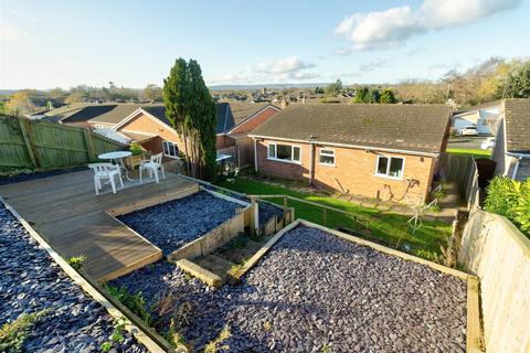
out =
[[[234,119],[226,103],[215,104],[218,111],[216,133],[229,131],[234,126]],[[125,118],[135,113],[138,108],[144,109],[148,114],[158,118],[160,121],[171,126],[166,116],[166,108],[161,104],[97,104],[74,106],[70,108],[68,115],[62,118],[62,122],[99,122],[108,125],[117,125]],[[226,109],[229,111],[226,111]],[[59,109],[57,109],[59,110]]]

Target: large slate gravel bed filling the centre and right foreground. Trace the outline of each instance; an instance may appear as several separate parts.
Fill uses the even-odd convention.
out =
[[[214,290],[169,263],[113,285],[142,291],[148,308],[168,292],[174,308],[191,303],[181,332],[197,350],[227,325],[230,352],[465,352],[465,281],[304,226],[236,287]]]

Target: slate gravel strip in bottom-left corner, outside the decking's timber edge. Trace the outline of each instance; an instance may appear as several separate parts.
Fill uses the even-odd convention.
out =
[[[100,351],[114,331],[113,318],[88,297],[0,204],[0,325],[21,313],[49,309],[24,343],[26,352]],[[146,352],[123,332],[115,351]]]

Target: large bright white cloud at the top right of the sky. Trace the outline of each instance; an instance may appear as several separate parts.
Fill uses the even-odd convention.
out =
[[[513,9],[521,0],[424,0],[417,11],[411,7],[385,11],[357,12],[335,30],[351,43],[351,50],[388,49],[430,30],[473,22]],[[347,54],[340,50],[339,54]]]

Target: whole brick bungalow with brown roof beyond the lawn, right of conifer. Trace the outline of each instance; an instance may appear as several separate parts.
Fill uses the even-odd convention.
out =
[[[403,203],[424,202],[447,147],[445,105],[294,105],[250,137],[255,170]]]

